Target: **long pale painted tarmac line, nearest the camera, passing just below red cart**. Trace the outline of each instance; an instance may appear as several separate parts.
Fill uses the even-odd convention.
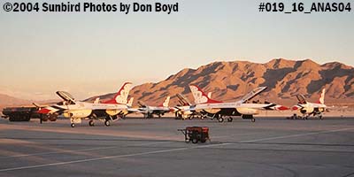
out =
[[[224,146],[224,145],[228,145],[228,144],[232,144],[232,143],[208,144],[208,145],[201,145],[201,146],[187,147],[187,148],[176,148],[176,149],[170,149],[170,150],[154,150],[154,151],[140,152],[140,153],[134,153],[134,154],[126,154],[126,155],[106,156],[106,157],[101,157],[101,158],[87,158],[87,159],[81,159],[81,160],[50,163],[50,164],[43,164],[43,165],[19,166],[19,167],[13,167],[13,168],[0,169],[0,172],[9,172],[9,171],[16,171],[16,170],[33,169],[33,168],[40,168],[40,167],[47,167],[47,166],[77,164],[77,163],[92,162],[92,161],[112,159],[112,158],[129,158],[129,157],[143,156],[143,155],[150,155],[150,154],[159,154],[159,153],[165,153],[165,152],[173,152],[173,151],[181,151],[181,150],[193,150],[193,149],[198,149],[198,148],[209,148],[209,147],[215,147],[215,146]]]

